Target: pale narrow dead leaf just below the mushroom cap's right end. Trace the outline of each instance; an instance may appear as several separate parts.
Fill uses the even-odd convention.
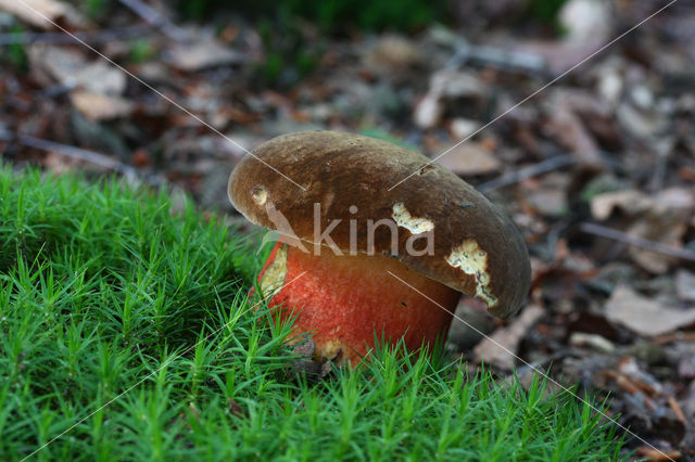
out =
[[[541,319],[545,310],[538,305],[530,305],[506,328],[497,329],[476,346],[476,359],[493,364],[500,369],[511,370],[516,362],[519,343],[526,333]]]

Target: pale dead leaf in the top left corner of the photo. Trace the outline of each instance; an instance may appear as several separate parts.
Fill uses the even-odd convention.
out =
[[[58,0],[23,0],[21,2],[0,0],[0,10],[14,14],[20,21],[45,30],[52,29],[54,27],[52,22],[55,23],[60,20],[65,20],[74,27],[88,25],[85,16],[73,5]]]

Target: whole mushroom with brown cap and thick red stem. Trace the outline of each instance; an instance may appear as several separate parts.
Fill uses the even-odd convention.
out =
[[[462,292],[503,318],[525,301],[531,269],[518,230],[424,155],[333,131],[277,137],[252,154],[232,171],[229,198],[288,238],[258,283],[264,293],[280,287],[270,305],[295,317],[296,333],[312,333],[315,357],[356,363],[375,333],[408,349],[431,344]]]

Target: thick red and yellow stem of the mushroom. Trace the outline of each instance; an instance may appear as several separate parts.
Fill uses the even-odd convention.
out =
[[[321,251],[316,256],[278,242],[258,277],[264,292],[293,281],[273,296],[270,306],[281,307],[275,316],[296,316],[295,333],[312,333],[316,359],[356,364],[374,348],[375,334],[391,344],[404,338],[415,350],[448,331],[457,291],[395,258]]]

